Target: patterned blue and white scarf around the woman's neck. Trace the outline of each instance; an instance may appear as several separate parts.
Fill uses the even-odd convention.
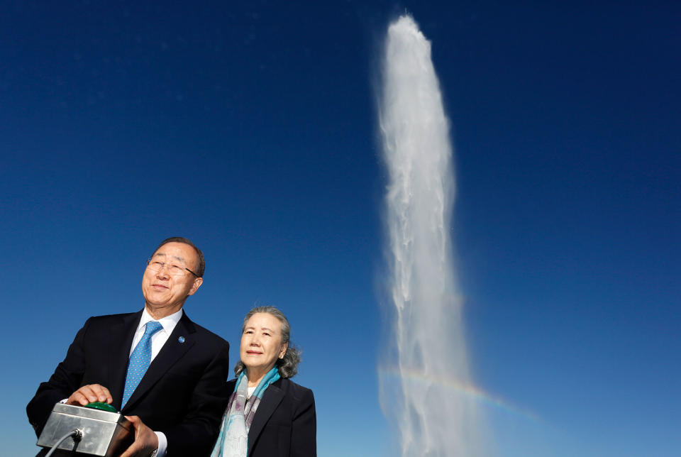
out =
[[[253,416],[258,410],[262,394],[265,393],[265,389],[272,382],[279,378],[281,376],[279,376],[277,367],[272,368],[262,378],[258,387],[255,387],[253,395],[246,400],[248,378],[246,377],[246,370],[241,372],[236,380],[234,392],[229,397],[229,403],[222,418],[218,441],[213,448],[211,457],[246,457],[248,453],[248,430],[250,430],[250,424],[253,423]]]

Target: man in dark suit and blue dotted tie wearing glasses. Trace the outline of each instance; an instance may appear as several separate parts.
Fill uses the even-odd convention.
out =
[[[142,277],[144,309],[88,319],[38,387],[26,407],[36,434],[57,402],[107,402],[135,427],[121,457],[208,456],[228,396],[229,344],[182,311],[203,275],[194,243],[163,241]]]

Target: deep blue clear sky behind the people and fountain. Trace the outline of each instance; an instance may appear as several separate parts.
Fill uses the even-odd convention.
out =
[[[433,43],[453,127],[451,230],[494,455],[678,455],[669,3],[8,2],[9,455],[36,449],[24,408],[87,316],[142,307],[145,260],[167,236],[204,250],[185,309],[235,349],[253,304],[289,316],[320,456],[389,455],[375,82],[404,11]]]

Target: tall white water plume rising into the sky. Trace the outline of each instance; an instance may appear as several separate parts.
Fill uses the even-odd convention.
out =
[[[450,240],[449,123],[431,44],[411,16],[389,26],[383,65],[379,113],[394,308],[381,404],[397,426],[402,456],[480,456],[476,405],[463,393],[470,380]]]

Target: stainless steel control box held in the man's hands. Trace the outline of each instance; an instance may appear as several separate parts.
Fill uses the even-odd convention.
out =
[[[82,439],[67,438],[53,456],[115,457],[135,439],[135,430],[123,414],[57,403],[38,438],[38,446],[52,448],[73,429],[83,432]]]

